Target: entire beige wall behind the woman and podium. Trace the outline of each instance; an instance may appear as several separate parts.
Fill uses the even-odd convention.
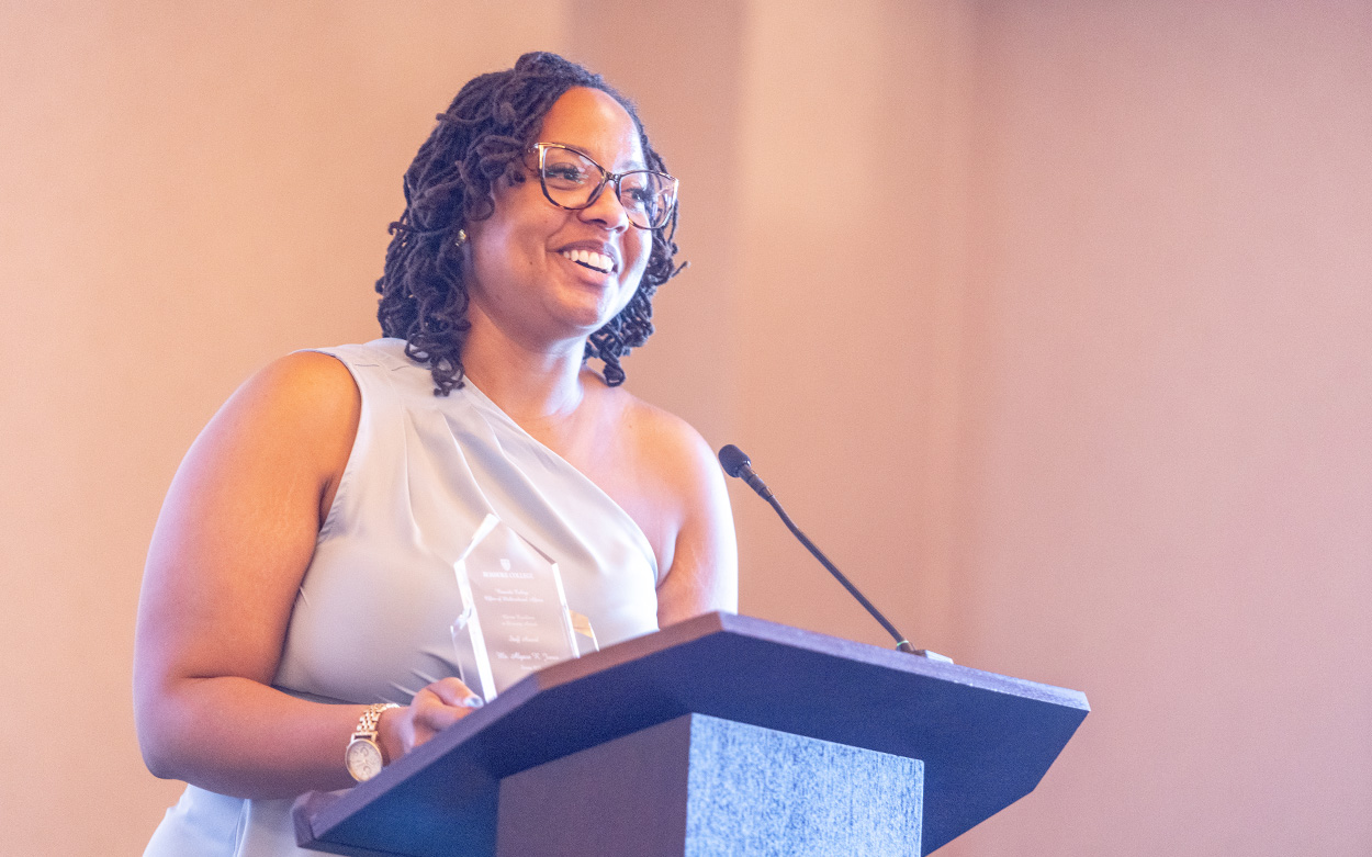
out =
[[[535,47],[685,182],[630,385],[918,642],[1091,697],[948,853],[1372,850],[1372,7],[394,5],[0,12],[0,852],[137,853],[174,798],[129,712],[170,474],[372,336],[432,114]],[[745,612],[882,643],[734,500]]]

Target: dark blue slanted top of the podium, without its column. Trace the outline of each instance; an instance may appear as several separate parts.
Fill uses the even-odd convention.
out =
[[[302,797],[296,834],[335,854],[495,854],[501,780],[700,714],[919,760],[927,854],[1029,794],[1088,710],[1078,691],[711,613],[536,672],[376,779]]]

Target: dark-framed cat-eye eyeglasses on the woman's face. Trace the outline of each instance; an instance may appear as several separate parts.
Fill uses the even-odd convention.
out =
[[[678,181],[654,170],[611,173],[582,152],[560,143],[535,143],[538,177],[543,196],[558,208],[579,211],[600,199],[605,185],[615,185],[615,196],[624,207],[628,222],[639,229],[661,229],[676,207]]]

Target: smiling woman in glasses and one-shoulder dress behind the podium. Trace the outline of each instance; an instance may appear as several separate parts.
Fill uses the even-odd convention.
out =
[[[189,787],[148,854],[296,853],[291,802],[353,783],[355,732],[391,761],[480,703],[451,564],[487,514],[602,643],[735,606],[709,448],[619,387],[675,273],[675,180],[632,107],[530,53],[439,119],[377,282],[388,339],[262,370],[169,491],[134,702],[148,768]]]

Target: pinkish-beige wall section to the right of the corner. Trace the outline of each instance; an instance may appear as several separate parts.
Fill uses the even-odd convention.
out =
[[[1095,713],[962,853],[1372,853],[1372,5],[977,32],[962,654]]]

